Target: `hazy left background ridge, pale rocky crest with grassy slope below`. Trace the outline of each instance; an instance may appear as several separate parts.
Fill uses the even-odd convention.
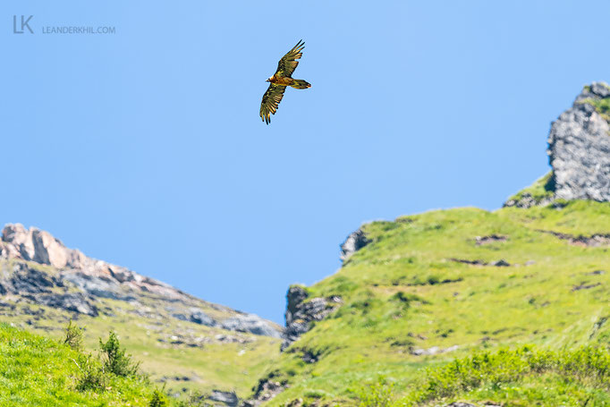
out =
[[[171,394],[204,391],[212,401],[245,396],[273,363],[283,334],[272,321],[91,259],[20,224],[0,236],[0,316],[56,339],[72,319],[89,349],[115,331]]]

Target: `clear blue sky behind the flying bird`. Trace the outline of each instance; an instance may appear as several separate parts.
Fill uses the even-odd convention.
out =
[[[459,4],[458,4],[459,3]],[[34,34],[13,34],[21,14]],[[366,221],[499,208],[610,81],[607,1],[0,4],[0,223],[283,321]],[[47,26],[114,34],[44,34]],[[18,29],[21,28],[18,26]],[[272,123],[265,80],[306,42]]]

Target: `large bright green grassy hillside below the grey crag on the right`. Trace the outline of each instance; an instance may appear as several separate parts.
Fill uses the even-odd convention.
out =
[[[369,244],[307,288],[343,304],[267,371],[286,386],[268,405],[610,405],[610,203],[362,230]]]

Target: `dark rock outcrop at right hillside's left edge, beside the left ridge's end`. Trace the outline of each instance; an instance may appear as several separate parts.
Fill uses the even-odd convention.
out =
[[[312,298],[308,300],[309,293],[298,285],[292,285],[286,294],[286,327],[284,329],[284,342],[281,350],[284,351],[294,341],[311,328],[313,321],[320,321],[335,308],[343,303],[339,296],[328,298]]]

